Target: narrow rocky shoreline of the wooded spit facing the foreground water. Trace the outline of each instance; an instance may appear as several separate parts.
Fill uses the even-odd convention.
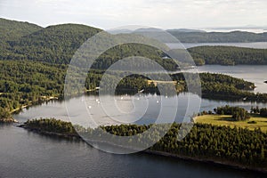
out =
[[[59,133],[54,133],[54,132],[48,132],[48,131],[42,131],[40,129],[36,128],[30,128],[25,125],[17,125],[20,128],[24,128],[30,132],[34,132],[36,134],[44,134],[47,136],[57,136],[60,138],[64,139],[74,139],[80,142],[85,142],[84,139],[79,135],[79,134],[59,134]],[[116,145],[112,142],[99,142],[99,141],[89,141],[89,142],[94,142],[94,143],[106,143],[109,144],[110,146],[116,146],[117,148],[124,149],[125,147]],[[126,148],[126,149],[132,149],[134,148]],[[212,158],[197,158],[197,157],[189,157],[189,156],[184,156],[184,155],[178,155],[174,153],[169,153],[166,151],[159,151],[159,150],[142,150],[140,151],[145,154],[150,154],[150,155],[157,155],[157,156],[162,156],[162,157],[168,157],[168,158],[178,158],[182,159],[185,161],[194,161],[194,162],[199,162],[199,163],[205,163],[205,164],[210,164],[210,165],[217,165],[217,166],[227,166],[233,169],[239,169],[239,170],[244,170],[244,171],[253,171],[259,174],[267,174],[267,167],[266,168],[256,168],[256,167],[250,167],[250,166],[243,166],[238,163],[233,163],[231,161],[223,161],[223,160],[215,160]]]

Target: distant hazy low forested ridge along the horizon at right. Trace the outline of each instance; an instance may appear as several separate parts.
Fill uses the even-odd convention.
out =
[[[246,43],[267,42],[267,33],[251,33],[246,31],[231,32],[182,32],[167,30],[182,43]]]

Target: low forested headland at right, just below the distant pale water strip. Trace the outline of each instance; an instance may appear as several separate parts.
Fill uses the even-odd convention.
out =
[[[267,49],[251,49],[234,46],[198,46],[192,47],[188,51],[193,59],[200,64],[267,64]]]

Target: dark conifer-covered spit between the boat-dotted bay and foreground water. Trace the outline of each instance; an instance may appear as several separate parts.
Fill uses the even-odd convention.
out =
[[[80,125],[71,125],[69,122],[55,118],[41,118],[28,120],[21,127],[39,134],[56,135],[67,138],[83,137],[100,138],[99,129],[109,134],[131,136],[141,134],[151,125],[109,125],[99,128],[84,128]],[[157,128],[164,129],[165,124]],[[267,134],[260,129],[250,131],[246,128],[230,126],[217,126],[207,124],[195,124],[190,134],[177,141],[180,124],[174,123],[167,134],[146,152],[163,156],[172,156],[190,160],[198,160],[220,165],[234,166],[242,169],[256,170],[266,173],[267,171]],[[79,134],[77,134],[77,131]],[[94,135],[94,136],[93,136]],[[153,136],[152,136],[153,135]],[[156,135],[156,136],[155,136]],[[157,138],[157,132],[147,135],[147,139]],[[102,141],[110,144],[116,142]],[[131,142],[129,140],[129,142]],[[119,146],[119,145],[118,145]]]

